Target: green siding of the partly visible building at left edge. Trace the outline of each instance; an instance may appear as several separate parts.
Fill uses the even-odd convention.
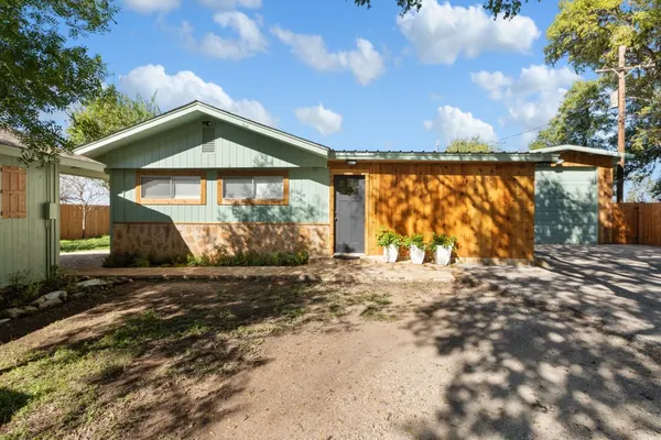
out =
[[[24,166],[18,157],[6,155],[0,155],[0,165]],[[52,265],[58,263],[59,217],[56,220],[45,218],[45,205],[57,202],[57,169],[32,165],[28,168],[26,180],[28,217],[0,218],[0,286],[7,285],[8,276],[19,271],[30,271],[33,279],[41,279]]]

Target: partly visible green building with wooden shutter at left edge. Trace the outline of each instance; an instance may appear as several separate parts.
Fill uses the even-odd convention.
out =
[[[0,131],[0,286],[19,272],[44,278],[59,263],[59,174],[106,177],[102,164],[78,155],[25,166],[23,148]]]

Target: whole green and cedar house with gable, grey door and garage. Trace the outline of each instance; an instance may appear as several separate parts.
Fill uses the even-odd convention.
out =
[[[378,254],[379,227],[454,234],[464,258],[608,242],[617,154],[334,151],[194,101],[86,144],[110,178],[111,252]],[[535,209],[537,205],[537,209]]]

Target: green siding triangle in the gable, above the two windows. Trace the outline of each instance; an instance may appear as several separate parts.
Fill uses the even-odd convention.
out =
[[[205,118],[208,120],[208,118]],[[107,168],[289,168],[326,166],[326,158],[216,121],[216,152],[202,152],[202,119],[134,141],[97,161]]]

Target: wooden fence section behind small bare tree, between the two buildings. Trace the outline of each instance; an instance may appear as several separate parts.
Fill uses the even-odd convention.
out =
[[[101,237],[110,233],[110,207],[96,206],[87,213],[86,237]],[[83,207],[79,205],[59,206],[59,238],[77,240],[83,238]]]

